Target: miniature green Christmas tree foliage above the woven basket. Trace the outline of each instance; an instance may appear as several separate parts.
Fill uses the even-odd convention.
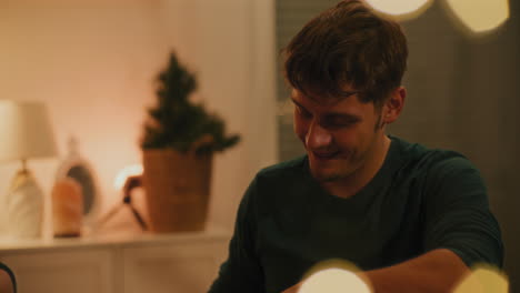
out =
[[[237,144],[238,134],[226,135],[224,123],[200,103],[190,102],[197,80],[172,52],[168,67],[158,77],[156,107],[148,109],[142,149],[172,148],[197,154],[219,152]]]

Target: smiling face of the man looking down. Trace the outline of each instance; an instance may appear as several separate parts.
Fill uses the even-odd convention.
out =
[[[306,97],[293,90],[294,132],[307,150],[312,175],[333,182],[367,168],[382,149],[381,110],[358,94],[343,99]]]

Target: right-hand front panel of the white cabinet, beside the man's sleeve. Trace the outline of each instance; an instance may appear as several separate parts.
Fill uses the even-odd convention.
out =
[[[227,241],[124,249],[124,293],[207,292],[226,255]]]

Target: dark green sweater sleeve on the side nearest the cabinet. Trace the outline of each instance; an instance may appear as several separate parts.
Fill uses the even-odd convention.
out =
[[[209,293],[263,293],[263,272],[254,250],[257,180],[249,185],[237,214],[228,259],[220,266]]]

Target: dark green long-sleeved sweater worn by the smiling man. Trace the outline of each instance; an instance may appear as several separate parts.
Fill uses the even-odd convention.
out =
[[[501,266],[500,229],[477,169],[456,152],[391,139],[381,169],[349,199],[324,191],[307,156],[260,171],[210,293],[279,293],[320,261],[372,270],[440,247],[470,267]]]

